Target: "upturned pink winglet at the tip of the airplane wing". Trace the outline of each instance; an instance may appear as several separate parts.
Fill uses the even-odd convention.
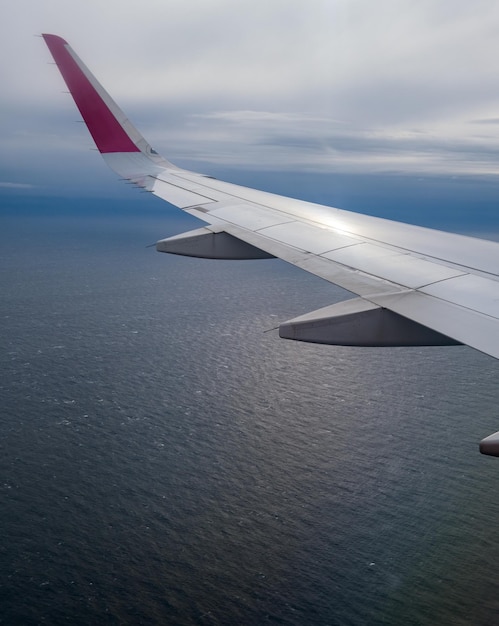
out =
[[[43,38],[99,151],[140,152],[69,52],[69,44],[57,35]]]

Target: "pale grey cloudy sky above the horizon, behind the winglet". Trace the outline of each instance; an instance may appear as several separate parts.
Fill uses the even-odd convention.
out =
[[[64,37],[156,150],[183,167],[497,174],[495,0],[5,4],[3,190],[70,193],[112,180],[42,32]]]

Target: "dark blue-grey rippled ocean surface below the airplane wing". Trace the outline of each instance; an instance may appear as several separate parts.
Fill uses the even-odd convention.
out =
[[[3,201],[0,623],[498,623],[499,363],[281,340],[345,292],[138,206]]]

